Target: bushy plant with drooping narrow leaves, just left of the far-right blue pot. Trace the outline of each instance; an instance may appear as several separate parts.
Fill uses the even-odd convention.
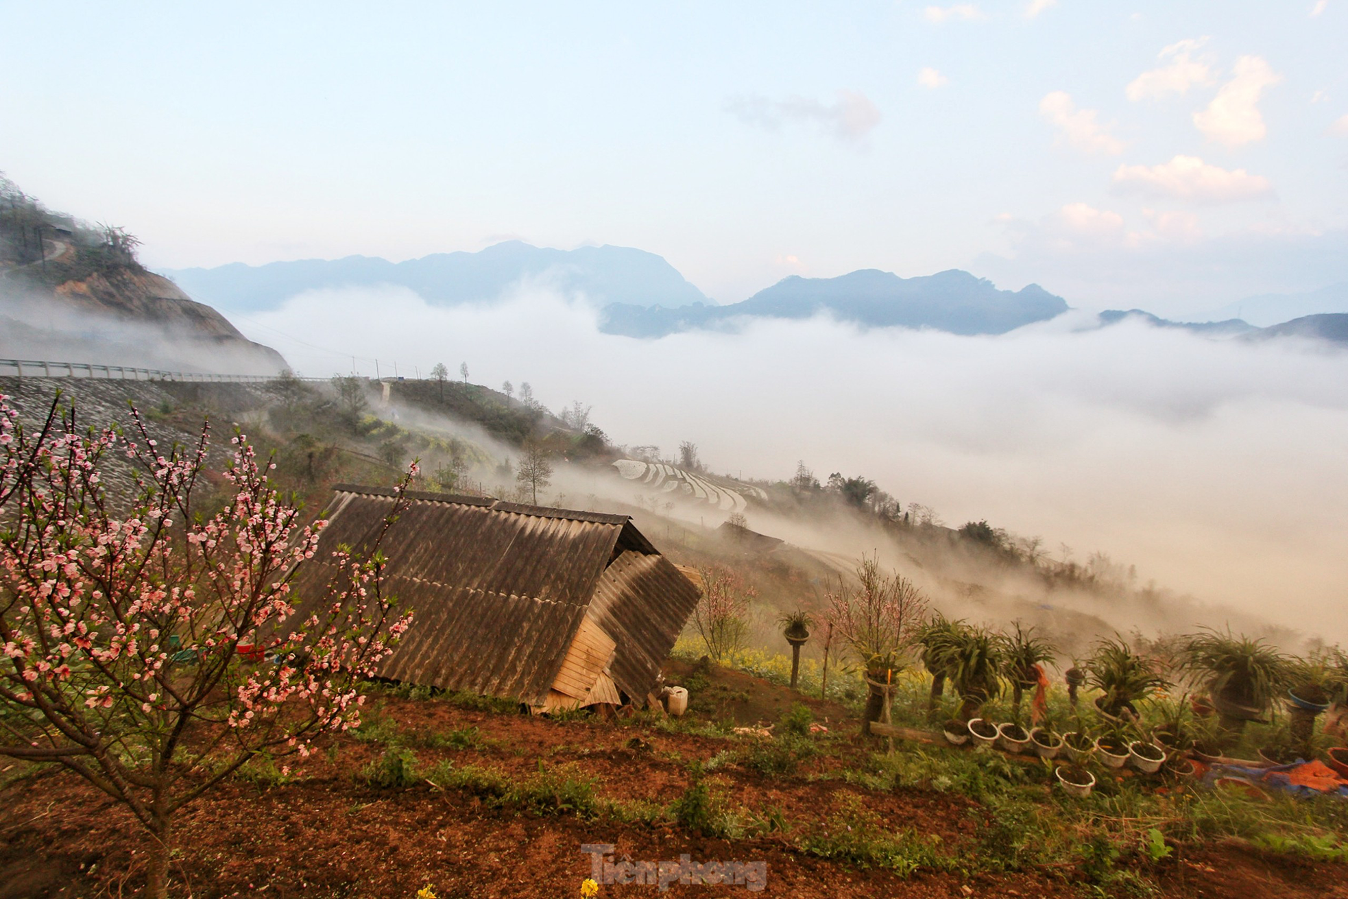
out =
[[[1287,656],[1260,639],[1204,631],[1185,639],[1184,664],[1208,678],[1212,705],[1228,733],[1260,721],[1291,682]]]

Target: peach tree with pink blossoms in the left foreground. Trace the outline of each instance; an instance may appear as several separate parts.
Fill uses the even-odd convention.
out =
[[[135,410],[128,430],[81,431],[59,396],[26,429],[0,395],[0,755],[129,809],[164,896],[175,811],[257,753],[284,763],[359,725],[359,681],[410,621],[379,543],[411,474],[372,545],[333,550],[336,574],[299,597],[325,522],[303,524],[270,460],[236,434],[228,500],[202,514],[209,422],[189,447],[158,446]]]

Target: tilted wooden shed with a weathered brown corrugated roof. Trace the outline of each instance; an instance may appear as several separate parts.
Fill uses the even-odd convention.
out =
[[[394,491],[338,484],[319,553],[368,546]],[[390,528],[384,589],[414,611],[380,667],[407,683],[518,698],[535,710],[642,702],[700,590],[627,515],[408,493]]]

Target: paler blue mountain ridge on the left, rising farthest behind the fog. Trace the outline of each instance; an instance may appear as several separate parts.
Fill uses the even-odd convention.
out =
[[[408,287],[426,302],[453,306],[492,301],[512,286],[538,279],[596,306],[663,307],[708,303],[708,298],[655,253],[630,247],[550,249],[511,240],[476,253],[434,253],[402,263],[372,256],[303,259],[290,263],[160,270],[179,287],[224,313],[276,309],[295,294],[325,287]]]

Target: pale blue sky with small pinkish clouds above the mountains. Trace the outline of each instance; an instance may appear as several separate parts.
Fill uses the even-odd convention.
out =
[[[1170,314],[1348,280],[1348,1],[838,9],[4,1],[0,170],[175,268],[520,237],[720,302],[962,267]]]

